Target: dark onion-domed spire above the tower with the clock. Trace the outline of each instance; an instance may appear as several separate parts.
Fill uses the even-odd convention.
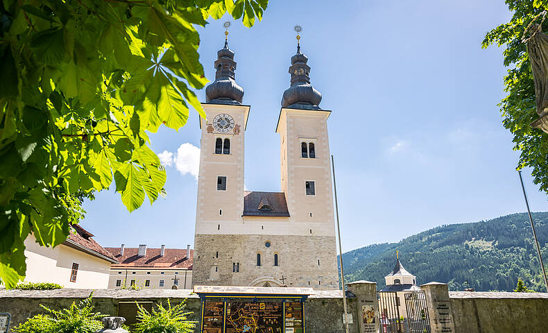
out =
[[[215,80],[205,88],[207,103],[241,105],[243,88],[234,80],[234,71],[236,70],[234,51],[228,49],[226,41],[225,47],[217,52],[215,68]]]

